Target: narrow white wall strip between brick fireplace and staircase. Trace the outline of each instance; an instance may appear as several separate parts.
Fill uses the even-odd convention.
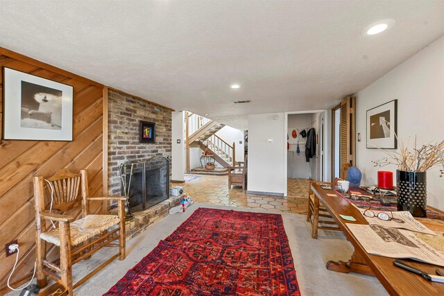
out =
[[[185,172],[185,118],[184,112],[175,111],[171,114],[171,180],[184,181]],[[177,142],[180,140],[180,143]]]

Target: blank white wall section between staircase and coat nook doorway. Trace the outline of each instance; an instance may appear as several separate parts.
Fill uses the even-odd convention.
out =
[[[284,195],[284,113],[248,115],[248,191]],[[269,143],[268,139],[273,142]]]

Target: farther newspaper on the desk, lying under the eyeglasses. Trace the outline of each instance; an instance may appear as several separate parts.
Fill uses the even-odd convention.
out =
[[[394,219],[386,221],[377,218],[377,214],[381,211],[373,210],[373,213],[375,213],[375,217],[368,217],[364,215],[364,211],[366,211],[366,209],[358,209],[361,212],[362,216],[366,218],[368,224],[384,227],[403,228],[411,230],[412,232],[422,232],[423,234],[436,235],[436,233],[432,232],[432,230],[428,229],[427,227],[425,227],[425,225],[422,225],[422,223],[413,218],[409,211],[392,211],[390,215],[393,216]],[[382,212],[388,213],[387,211]]]

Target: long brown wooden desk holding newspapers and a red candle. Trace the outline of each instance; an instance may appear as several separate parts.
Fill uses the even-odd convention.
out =
[[[321,200],[350,243],[355,247],[355,252],[353,252],[352,258],[348,262],[328,261],[326,266],[328,270],[373,275],[379,279],[390,295],[444,295],[444,284],[432,283],[412,272],[398,268],[393,265],[393,258],[368,254],[346,225],[346,223],[368,224],[359,210],[340,196],[328,196],[327,193],[334,193],[332,190],[322,189],[321,186],[316,184],[311,185],[311,189],[313,189],[315,195],[314,206],[319,207],[319,200]],[[339,214],[353,216],[356,221],[345,221],[339,217]],[[425,221],[421,220],[421,222],[427,226]],[[314,221],[314,223],[317,223],[317,221]],[[407,261],[409,265],[420,268],[432,275],[436,275],[435,268],[439,267],[413,260]]]

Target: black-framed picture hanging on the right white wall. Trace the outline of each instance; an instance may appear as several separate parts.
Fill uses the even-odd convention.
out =
[[[398,100],[367,110],[367,148],[397,149]]]

